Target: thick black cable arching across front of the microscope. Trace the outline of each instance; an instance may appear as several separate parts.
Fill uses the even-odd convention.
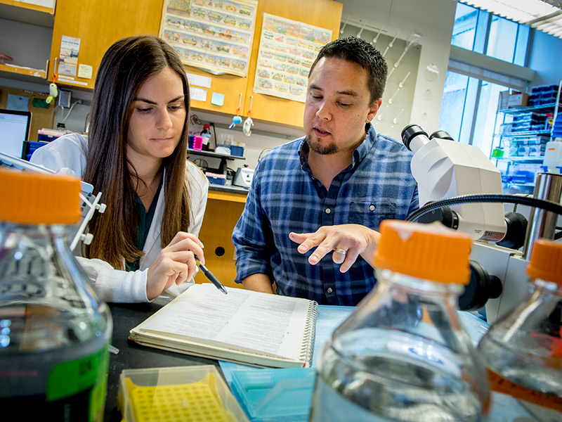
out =
[[[449,207],[451,205],[459,205],[465,203],[512,203],[519,205],[528,205],[530,207],[541,208],[542,210],[556,212],[558,215],[562,215],[562,205],[555,203],[551,200],[528,198],[526,196],[514,196],[514,195],[499,195],[496,193],[483,193],[478,195],[461,195],[453,196],[452,198],[436,200],[430,203],[426,203],[423,207],[412,212],[406,221],[415,222],[422,215],[426,215],[428,212],[437,210],[438,208]]]

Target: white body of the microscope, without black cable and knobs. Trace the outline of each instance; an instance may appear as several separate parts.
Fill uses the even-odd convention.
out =
[[[502,194],[501,173],[480,148],[431,137],[415,125],[403,131],[403,141],[414,153],[411,168],[418,183],[420,207],[453,196]],[[471,260],[502,283],[499,298],[489,299],[485,305],[488,322],[492,323],[525,297],[528,261],[517,250],[486,243],[502,241],[506,234],[502,203],[466,203],[450,209],[457,219],[453,228],[474,239]]]

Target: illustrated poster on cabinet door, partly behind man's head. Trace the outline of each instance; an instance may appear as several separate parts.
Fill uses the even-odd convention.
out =
[[[263,13],[254,92],[306,99],[308,71],[332,31]]]

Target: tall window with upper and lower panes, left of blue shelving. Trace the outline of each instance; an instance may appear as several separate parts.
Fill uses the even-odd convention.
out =
[[[529,35],[530,28],[526,25],[458,3],[451,44],[523,66]],[[493,68],[474,64],[465,65],[462,70],[462,66],[452,63],[445,77],[439,129],[456,141],[478,146],[489,156],[499,91],[523,86],[524,81],[515,83],[509,77],[494,79],[490,76],[495,71]],[[485,75],[490,79],[485,79]]]

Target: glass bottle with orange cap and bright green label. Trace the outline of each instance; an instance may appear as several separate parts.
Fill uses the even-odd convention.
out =
[[[3,420],[103,421],[112,319],[67,246],[79,192],[74,177],[0,169]]]

